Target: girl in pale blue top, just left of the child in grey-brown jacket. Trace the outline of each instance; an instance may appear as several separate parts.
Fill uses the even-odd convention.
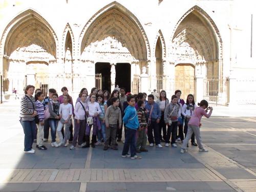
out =
[[[106,109],[108,108],[108,106],[106,105],[106,103],[103,100],[102,95],[98,95],[97,101],[99,103],[99,106],[100,106],[100,109],[101,109],[102,113],[99,114],[99,121],[100,121],[101,130],[97,130],[98,141],[97,141],[97,143],[95,143],[95,145],[99,145],[101,143],[102,139],[103,139],[104,142],[106,141],[105,112],[106,112]]]

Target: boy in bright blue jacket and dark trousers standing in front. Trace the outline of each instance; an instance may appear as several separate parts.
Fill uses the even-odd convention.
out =
[[[125,142],[123,145],[122,157],[130,157],[128,154],[129,147],[131,147],[131,159],[141,159],[136,155],[136,131],[139,127],[139,120],[137,111],[135,109],[135,98],[133,96],[127,97],[129,106],[124,111],[123,123],[126,128]]]

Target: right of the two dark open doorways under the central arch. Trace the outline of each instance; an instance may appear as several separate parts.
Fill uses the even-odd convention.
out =
[[[131,92],[131,65],[130,63],[116,64],[116,83],[119,88],[125,88],[126,92]]]

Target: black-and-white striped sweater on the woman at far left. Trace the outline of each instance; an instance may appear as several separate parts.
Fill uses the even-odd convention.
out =
[[[28,96],[25,95],[20,101],[19,117],[23,121],[33,121],[35,119],[33,117],[33,112],[36,110],[36,102],[33,96],[31,96],[30,99],[32,102],[29,100]]]

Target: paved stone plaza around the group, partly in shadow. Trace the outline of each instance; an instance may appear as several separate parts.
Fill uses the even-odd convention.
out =
[[[121,157],[122,143],[71,151],[47,142],[47,151],[24,154],[18,112],[18,101],[0,105],[0,191],[256,191],[254,117],[203,118],[208,153],[148,146],[131,160]]]

